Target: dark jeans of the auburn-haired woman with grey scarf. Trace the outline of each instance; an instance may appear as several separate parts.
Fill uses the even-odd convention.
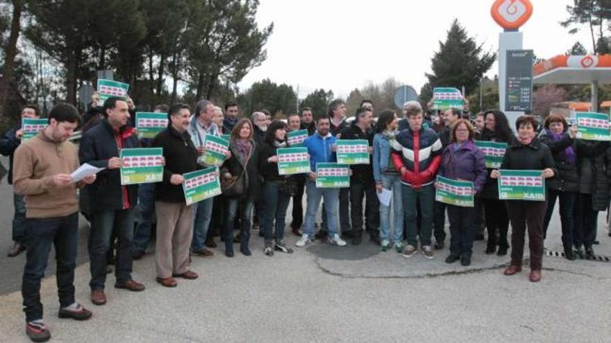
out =
[[[237,211],[240,210],[240,249],[248,248],[251,238],[251,220],[253,218],[254,202],[251,199],[238,197],[225,198],[225,249],[233,252],[233,228]]]

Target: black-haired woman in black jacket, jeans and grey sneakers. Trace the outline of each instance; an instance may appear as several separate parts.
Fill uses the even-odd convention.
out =
[[[274,250],[291,254],[293,250],[284,241],[286,212],[296,190],[296,179],[293,176],[278,174],[278,148],[287,148],[287,125],[283,121],[272,121],[265,134],[265,141],[259,154],[259,171],[263,177],[262,229],[265,236],[267,256],[274,256]],[[274,226],[274,220],[276,225]],[[274,227],[276,243],[274,243]]]

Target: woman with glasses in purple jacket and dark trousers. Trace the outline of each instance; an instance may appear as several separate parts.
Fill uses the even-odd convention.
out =
[[[440,175],[448,179],[473,182],[474,193],[477,193],[486,182],[487,172],[484,153],[473,142],[474,134],[469,121],[459,119],[454,123],[450,132],[451,144],[443,153]],[[475,234],[471,229],[473,216],[473,207],[448,205],[450,254],[446,263],[460,259],[464,266],[471,264]]]

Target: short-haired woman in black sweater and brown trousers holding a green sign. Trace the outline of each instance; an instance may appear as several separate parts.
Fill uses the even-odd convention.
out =
[[[510,184],[517,186],[517,190],[542,184],[542,179],[549,179],[556,175],[555,162],[551,150],[535,138],[537,120],[533,116],[521,116],[516,121],[518,141],[508,146],[503,157],[501,170],[540,170],[536,177],[512,177]],[[526,173],[525,173],[526,174]],[[490,177],[502,177],[499,170],[492,170]],[[503,179],[499,181],[503,184]],[[533,187],[535,188],[535,187]],[[526,192],[526,191],[525,191]],[[534,191],[533,191],[534,192]],[[503,193],[499,192],[501,198]],[[505,275],[513,275],[522,270],[522,256],[524,255],[524,234],[528,227],[528,245],[530,248],[530,281],[541,280],[541,265],[543,259],[543,220],[546,210],[545,190],[540,194],[524,193],[523,199],[539,200],[510,200],[507,202],[507,211],[511,221],[511,264],[505,270]],[[514,198],[512,198],[514,199]]]

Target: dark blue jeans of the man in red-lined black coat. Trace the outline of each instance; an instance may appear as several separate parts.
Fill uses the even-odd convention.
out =
[[[90,239],[90,270],[92,290],[103,290],[106,283],[106,252],[110,248],[110,236],[113,229],[117,232],[117,260],[115,263],[115,277],[117,283],[131,280],[133,222],[135,210],[133,208],[119,211],[98,211],[94,213]]]

